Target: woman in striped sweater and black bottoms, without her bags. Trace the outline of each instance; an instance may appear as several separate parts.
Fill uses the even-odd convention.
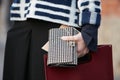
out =
[[[100,0],[14,0],[8,31],[3,80],[45,80],[41,47],[48,41],[50,28],[72,26],[79,57],[97,49]]]

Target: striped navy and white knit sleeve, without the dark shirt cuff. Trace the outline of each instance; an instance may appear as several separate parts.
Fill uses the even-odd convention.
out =
[[[78,0],[78,25],[93,24],[97,27],[101,21],[101,0]]]

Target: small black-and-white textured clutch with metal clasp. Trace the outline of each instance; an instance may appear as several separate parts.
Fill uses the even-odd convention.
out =
[[[64,41],[62,36],[78,34],[74,27],[52,28],[49,30],[48,66],[75,66],[77,65],[77,46],[74,41]]]

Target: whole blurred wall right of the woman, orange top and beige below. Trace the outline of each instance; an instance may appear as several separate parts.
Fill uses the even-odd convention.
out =
[[[102,0],[99,44],[112,44],[114,75],[120,80],[120,0]]]

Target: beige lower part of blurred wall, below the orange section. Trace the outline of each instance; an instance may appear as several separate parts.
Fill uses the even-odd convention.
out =
[[[120,80],[120,17],[102,18],[99,44],[112,44],[114,75]]]

